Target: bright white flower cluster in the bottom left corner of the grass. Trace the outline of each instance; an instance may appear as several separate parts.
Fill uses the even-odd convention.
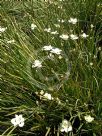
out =
[[[15,115],[15,118],[11,119],[11,123],[14,126],[19,126],[19,127],[23,127],[24,126],[24,118],[22,117],[22,115]]]

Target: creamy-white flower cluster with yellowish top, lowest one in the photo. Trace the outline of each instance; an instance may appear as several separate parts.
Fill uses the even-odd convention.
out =
[[[67,121],[66,119],[64,119],[62,121],[62,123],[60,124],[60,131],[61,132],[66,132],[66,133],[72,131],[71,123],[69,121]]]

